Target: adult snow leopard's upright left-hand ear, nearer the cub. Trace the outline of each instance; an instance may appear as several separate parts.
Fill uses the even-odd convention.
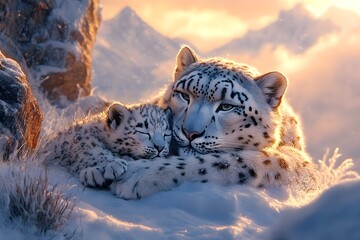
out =
[[[188,46],[184,45],[177,57],[176,57],[176,68],[174,73],[174,81],[179,79],[180,74],[191,64],[197,62],[199,58],[195,52]]]

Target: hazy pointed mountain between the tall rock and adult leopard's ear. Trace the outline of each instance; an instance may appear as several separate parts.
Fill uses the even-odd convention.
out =
[[[161,35],[130,7],[124,8],[100,26],[93,52],[95,92],[138,102],[171,79],[180,45],[181,40]]]

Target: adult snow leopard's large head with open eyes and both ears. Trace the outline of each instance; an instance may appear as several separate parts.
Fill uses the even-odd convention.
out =
[[[180,154],[261,149],[277,144],[278,107],[286,90],[279,72],[221,58],[200,59],[183,47],[163,103],[173,113]]]

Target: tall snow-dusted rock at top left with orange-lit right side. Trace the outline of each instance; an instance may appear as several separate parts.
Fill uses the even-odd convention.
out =
[[[19,49],[34,82],[52,102],[91,90],[91,51],[100,24],[98,0],[4,0],[0,31]],[[11,52],[8,57],[18,60]]]

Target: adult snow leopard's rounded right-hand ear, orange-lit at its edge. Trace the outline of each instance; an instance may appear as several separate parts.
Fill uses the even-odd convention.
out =
[[[287,87],[287,79],[280,72],[269,72],[255,79],[266,97],[267,103],[273,108],[277,108]]]

